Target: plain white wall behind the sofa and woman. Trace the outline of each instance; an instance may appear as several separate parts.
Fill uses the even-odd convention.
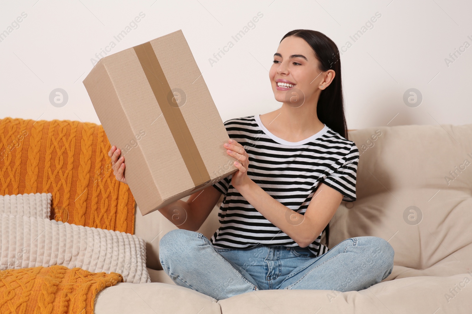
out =
[[[349,129],[402,124],[472,123],[472,4],[466,0],[384,1],[29,0],[2,1],[0,118],[79,120],[100,123],[82,80],[91,58],[115,41],[110,53],[182,29],[223,121],[280,107],[268,70],[282,36],[296,28],[325,33],[341,48]],[[22,12],[19,28],[8,26]],[[126,37],[118,34],[140,12],[145,17]],[[216,64],[209,58],[256,16],[263,17]],[[381,17],[362,37],[353,35]],[[16,26],[16,25],[14,25]],[[468,37],[470,36],[470,37]],[[446,64],[445,58],[468,43]],[[464,50],[464,48],[463,48]],[[104,55],[103,55],[104,56]],[[451,59],[452,60],[452,59]],[[244,81],[247,88],[241,89]],[[55,107],[53,89],[67,91]],[[418,89],[421,105],[403,101]],[[392,120],[393,119],[393,120]]]

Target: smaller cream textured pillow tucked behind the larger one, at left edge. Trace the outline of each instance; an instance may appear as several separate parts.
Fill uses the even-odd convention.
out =
[[[49,219],[51,199],[51,193],[0,195],[0,214]]]

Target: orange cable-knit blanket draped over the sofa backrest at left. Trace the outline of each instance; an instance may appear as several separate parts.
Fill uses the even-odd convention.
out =
[[[0,120],[0,195],[52,193],[51,219],[134,233],[135,199],[89,122]]]

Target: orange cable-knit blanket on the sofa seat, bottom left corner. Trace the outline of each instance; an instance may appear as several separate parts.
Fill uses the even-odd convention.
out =
[[[120,274],[65,266],[0,272],[0,313],[93,314],[96,294],[122,281]]]

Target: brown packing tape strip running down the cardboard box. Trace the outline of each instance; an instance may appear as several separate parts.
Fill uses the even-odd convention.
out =
[[[176,103],[174,105],[170,103],[173,101],[174,95],[154,49],[152,49],[151,42],[148,41],[133,48],[156,97],[162,115],[166,119],[170,132],[174,137],[177,148],[182,155],[188,173],[194,181],[195,188],[198,188],[211,180],[210,174],[205,167],[202,156],[198,151],[180,108]]]

